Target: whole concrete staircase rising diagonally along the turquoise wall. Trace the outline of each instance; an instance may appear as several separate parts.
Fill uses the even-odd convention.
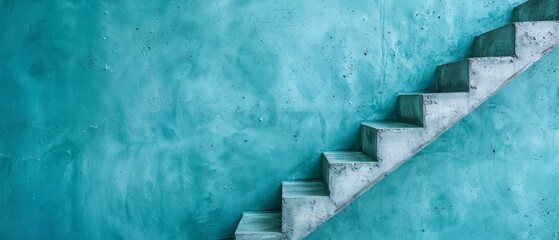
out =
[[[398,96],[397,121],[361,124],[362,149],[324,152],[323,179],[282,183],[281,212],[247,212],[237,239],[302,239],[472,112],[559,43],[559,0],[531,0],[437,67],[434,93]]]

